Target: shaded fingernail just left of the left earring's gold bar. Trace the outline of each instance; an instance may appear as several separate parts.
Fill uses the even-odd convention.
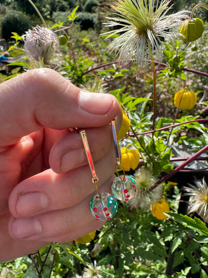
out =
[[[74,169],[85,160],[84,150],[78,149],[70,152],[66,152],[61,158],[61,173],[65,173],[71,169]]]

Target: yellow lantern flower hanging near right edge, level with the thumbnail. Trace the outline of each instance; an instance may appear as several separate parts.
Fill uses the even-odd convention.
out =
[[[176,107],[178,107],[179,105],[179,109],[190,110],[193,108],[195,103],[196,103],[196,94],[193,91],[180,90],[174,95],[174,105]]]

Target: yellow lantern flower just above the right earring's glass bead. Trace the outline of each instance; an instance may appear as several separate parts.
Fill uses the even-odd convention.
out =
[[[128,149],[126,147],[122,147],[121,149],[121,168],[124,171],[130,171],[131,169],[135,169],[139,163],[139,152],[135,149]]]

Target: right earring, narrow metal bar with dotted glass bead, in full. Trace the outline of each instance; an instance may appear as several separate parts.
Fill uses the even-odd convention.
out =
[[[117,167],[120,166],[120,152],[119,152],[119,146],[118,146],[117,135],[116,135],[115,121],[111,121],[111,128],[112,128],[112,136],[113,136],[113,142],[115,148],[115,156],[117,161],[117,164],[115,165],[115,171],[118,174],[118,176],[113,180],[111,184],[111,191],[112,191],[112,195],[116,199],[120,201],[128,201],[133,196],[135,196],[136,182],[132,177],[126,176],[124,170],[123,170],[124,174],[122,176],[120,176],[117,171]]]

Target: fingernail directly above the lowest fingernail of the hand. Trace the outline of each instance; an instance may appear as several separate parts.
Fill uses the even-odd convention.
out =
[[[31,217],[48,206],[47,197],[40,192],[25,193],[19,196],[16,213],[21,217]]]

